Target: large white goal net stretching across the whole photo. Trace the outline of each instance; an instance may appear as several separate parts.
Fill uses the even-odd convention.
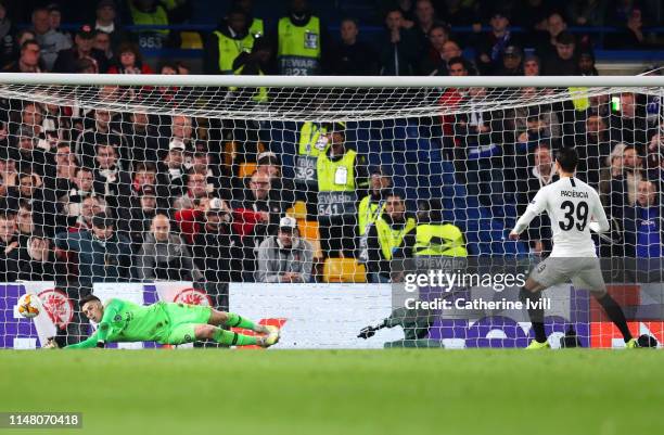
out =
[[[523,347],[512,303],[551,222],[508,234],[562,148],[609,216],[609,292],[664,338],[660,77],[0,82],[0,347],[88,336],[90,293],[231,310],[282,347]],[[585,290],[545,292],[552,346],[620,347]]]

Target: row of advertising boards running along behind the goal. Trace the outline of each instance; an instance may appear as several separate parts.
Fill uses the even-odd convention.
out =
[[[35,319],[24,319],[16,310],[18,297],[26,292],[38,294],[43,303],[42,312]],[[357,337],[362,328],[380,324],[394,315],[388,284],[233,283],[229,292],[231,311],[282,328],[278,348],[381,348],[403,344],[405,331],[400,325],[382,329],[368,340]],[[628,317],[640,320],[629,322],[635,335],[648,333],[660,344],[664,342],[662,284],[612,285],[610,292],[628,307]],[[191,282],[97,283],[93,293],[102,300],[119,297],[145,305],[157,300],[210,304],[209,297]],[[563,286],[557,294],[562,304],[547,316],[547,332],[553,335],[554,346],[570,328],[583,346],[624,345],[620,333],[586,292]],[[0,283],[0,348],[41,346],[46,337],[54,335],[55,324],[73,321],[74,310],[75,304],[52,282]],[[505,312],[470,320],[444,316],[435,319],[426,341],[447,348],[524,347],[531,325],[514,319]],[[114,346],[157,347],[155,343]]]

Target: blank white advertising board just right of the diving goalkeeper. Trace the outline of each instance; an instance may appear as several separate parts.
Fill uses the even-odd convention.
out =
[[[358,338],[392,311],[388,284],[231,283],[230,310],[263,324],[280,324],[278,348],[382,348],[404,338],[400,328]]]

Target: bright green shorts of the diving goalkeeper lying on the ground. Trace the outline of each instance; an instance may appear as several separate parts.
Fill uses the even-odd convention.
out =
[[[207,324],[212,308],[201,305],[165,304],[164,311],[168,316],[170,328],[164,334],[161,344],[192,343],[196,340],[195,328]]]

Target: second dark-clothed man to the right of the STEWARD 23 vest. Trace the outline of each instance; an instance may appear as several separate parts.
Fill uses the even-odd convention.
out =
[[[401,11],[394,9],[385,16],[386,31],[379,40],[381,76],[412,76],[420,57],[418,39],[410,29],[403,27]]]

